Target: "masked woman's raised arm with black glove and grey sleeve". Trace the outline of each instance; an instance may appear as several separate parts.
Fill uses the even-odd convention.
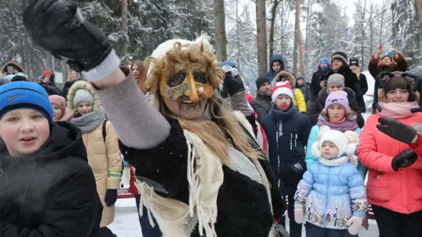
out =
[[[147,149],[169,136],[169,123],[147,102],[135,80],[119,69],[120,59],[105,34],[86,21],[74,3],[25,0],[23,23],[37,45],[67,59],[76,72],[87,72],[123,144]]]

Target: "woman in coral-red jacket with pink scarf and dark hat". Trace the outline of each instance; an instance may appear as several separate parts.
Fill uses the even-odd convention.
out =
[[[358,147],[359,160],[369,168],[368,202],[381,237],[422,236],[422,159],[403,165],[400,161],[415,156],[406,150],[409,145],[386,136],[385,130],[398,132],[390,131],[388,124],[378,124],[379,118],[381,122],[395,119],[420,130],[422,114],[411,112],[419,107],[419,93],[412,91],[414,79],[404,75],[389,75],[382,82],[381,111],[367,119]]]

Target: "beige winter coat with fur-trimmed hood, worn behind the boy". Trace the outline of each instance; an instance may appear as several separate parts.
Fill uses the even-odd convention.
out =
[[[67,95],[68,109],[74,113],[73,98],[78,89],[86,89],[94,96],[94,111],[100,107],[100,102],[91,84],[85,81],[75,82],[69,89]],[[118,137],[110,121],[106,122],[105,142],[102,136],[102,122],[91,132],[82,134],[90,164],[96,183],[96,190],[103,205],[100,227],[111,224],[114,220],[114,205],[108,207],[104,198],[107,189],[119,189],[122,175],[122,156],[120,154]]]

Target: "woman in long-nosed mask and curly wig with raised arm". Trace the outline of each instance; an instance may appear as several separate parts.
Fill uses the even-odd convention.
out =
[[[40,46],[87,71],[122,154],[136,168],[141,204],[163,236],[275,236],[285,203],[254,139],[244,85],[225,75],[209,40],[168,40],[153,51],[145,81],[151,105],[119,69],[105,35],[82,21],[73,3],[47,2],[26,4],[24,24]],[[223,79],[232,108],[243,114],[214,92]]]

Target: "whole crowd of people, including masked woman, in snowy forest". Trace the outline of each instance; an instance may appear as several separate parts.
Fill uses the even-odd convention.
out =
[[[73,3],[45,2],[25,28],[71,70],[60,89],[1,69],[0,236],[116,237],[124,162],[144,237],[282,237],[285,215],[290,237],[357,236],[368,203],[380,237],[422,236],[421,75],[397,50],[371,57],[365,121],[368,81],[342,51],[309,86],[273,55],[253,98],[207,36],[122,66]]]

